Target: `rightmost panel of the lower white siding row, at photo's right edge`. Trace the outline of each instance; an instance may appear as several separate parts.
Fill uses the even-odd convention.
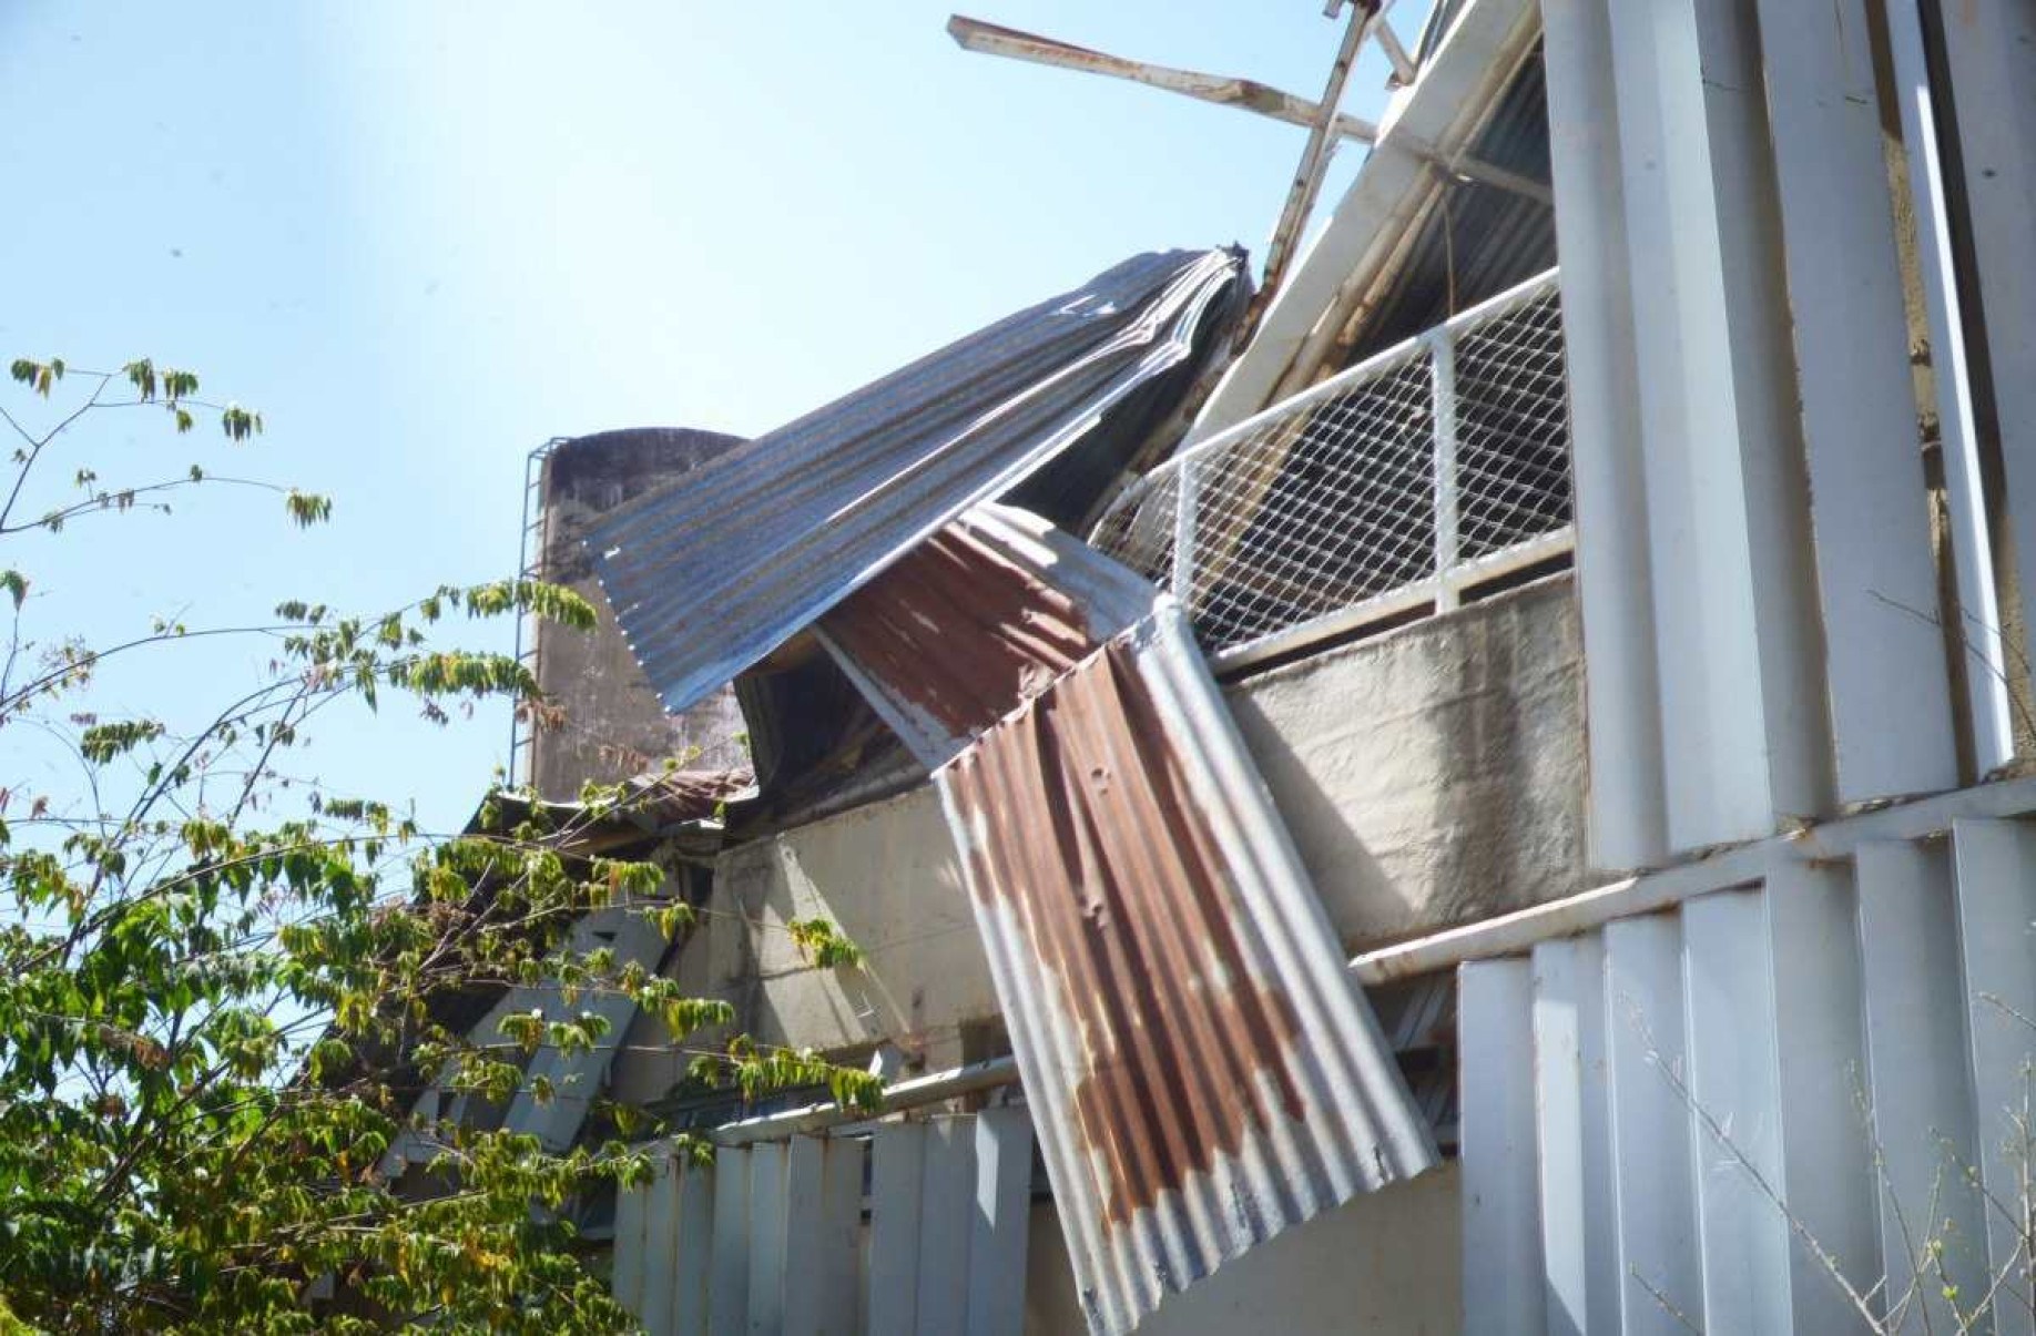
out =
[[[2030,1259],[2010,1218],[2028,1198],[2036,1151],[2030,1069],[2036,1063],[2036,829],[2020,821],[1953,825],[1959,943],[1973,1037],[1973,1108],[1987,1210],[1987,1265],[2001,1279],[1999,1336],[2036,1330]]]

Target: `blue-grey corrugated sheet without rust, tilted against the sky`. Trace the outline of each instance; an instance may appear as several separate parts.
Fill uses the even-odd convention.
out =
[[[666,707],[727,682],[1187,363],[1242,281],[1234,250],[1140,255],[617,513],[588,548]]]

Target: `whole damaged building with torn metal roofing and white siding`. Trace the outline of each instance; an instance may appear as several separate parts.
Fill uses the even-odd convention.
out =
[[[590,1208],[647,1330],[2036,1330],[2036,12],[1393,47],[1266,293],[538,458],[521,774],[700,910],[588,933],[890,1077],[554,1059],[721,1147]]]

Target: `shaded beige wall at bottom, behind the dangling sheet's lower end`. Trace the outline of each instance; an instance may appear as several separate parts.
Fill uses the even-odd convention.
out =
[[[1140,1336],[1454,1336],[1462,1330],[1462,1173],[1456,1161],[1366,1193],[1224,1263],[1167,1299]],[[1081,1332],[1053,1204],[1026,1234],[1024,1330]]]

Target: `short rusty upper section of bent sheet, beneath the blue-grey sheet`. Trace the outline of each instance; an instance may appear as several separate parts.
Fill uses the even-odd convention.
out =
[[[979,505],[851,595],[821,639],[935,768],[1152,609],[1152,587],[1051,523]]]

